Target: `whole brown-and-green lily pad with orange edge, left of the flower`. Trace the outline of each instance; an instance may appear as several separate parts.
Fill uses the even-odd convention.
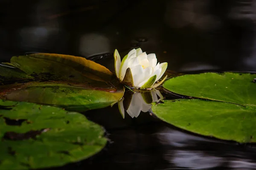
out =
[[[0,66],[0,99],[81,112],[110,106],[124,94],[111,71],[82,57],[36,53],[2,65],[9,68]]]

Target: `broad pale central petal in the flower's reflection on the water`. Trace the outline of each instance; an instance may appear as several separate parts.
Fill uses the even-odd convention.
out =
[[[140,114],[140,111],[142,109],[142,103],[140,101],[140,98],[138,97],[138,93],[134,94],[131,99],[131,103],[129,105],[129,108],[127,110],[127,113],[131,117],[138,117]]]

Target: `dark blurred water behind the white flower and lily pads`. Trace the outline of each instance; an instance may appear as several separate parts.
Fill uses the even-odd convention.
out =
[[[169,70],[255,71],[255,24],[255,0],[0,0],[0,56],[141,47]]]

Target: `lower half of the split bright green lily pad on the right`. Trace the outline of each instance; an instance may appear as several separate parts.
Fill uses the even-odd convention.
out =
[[[152,111],[163,121],[204,136],[241,143],[256,142],[256,110],[202,99],[164,100]]]

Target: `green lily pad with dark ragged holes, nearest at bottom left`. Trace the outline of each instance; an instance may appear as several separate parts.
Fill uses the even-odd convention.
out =
[[[0,169],[54,167],[98,153],[107,139],[101,126],[76,112],[0,100]]]

